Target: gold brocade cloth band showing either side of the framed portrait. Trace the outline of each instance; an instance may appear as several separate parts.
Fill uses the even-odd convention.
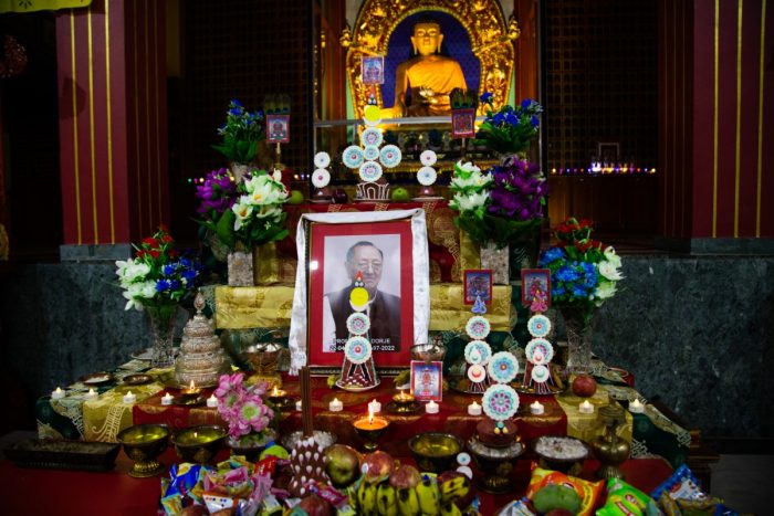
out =
[[[462,303],[460,283],[430,285],[430,330],[460,330],[470,318],[470,306]],[[274,328],[290,326],[293,286],[217,286],[215,322],[221,329]],[[516,323],[511,305],[511,286],[494,285],[487,317],[492,330],[509,331]]]

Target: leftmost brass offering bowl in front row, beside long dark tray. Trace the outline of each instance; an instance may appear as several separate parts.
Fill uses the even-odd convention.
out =
[[[169,443],[169,428],[165,424],[135,424],[117,435],[124,452],[134,461],[129,476],[145,478],[165,471],[158,462]]]

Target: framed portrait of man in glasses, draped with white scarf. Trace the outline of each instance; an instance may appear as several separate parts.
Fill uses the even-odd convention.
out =
[[[405,369],[414,343],[427,340],[426,242],[422,210],[303,214],[296,244],[304,266],[296,272],[291,315],[291,370],[296,361],[315,373],[341,370],[344,347],[358,335],[370,343],[378,371]],[[365,333],[362,323],[353,326],[354,313],[367,316]]]

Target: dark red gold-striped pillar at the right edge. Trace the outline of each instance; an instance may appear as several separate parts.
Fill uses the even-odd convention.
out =
[[[660,232],[760,246],[774,238],[774,2],[660,0],[659,18]]]

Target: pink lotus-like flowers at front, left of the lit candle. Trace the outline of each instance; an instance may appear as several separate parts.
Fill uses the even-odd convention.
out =
[[[266,387],[265,382],[247,386],[243,372],[220,377],[215,397],[218,399],[218,412],[229,425],[231,439],[243,444],[263,440],[263,433],[274,418],[274,411],[263,403]]]

